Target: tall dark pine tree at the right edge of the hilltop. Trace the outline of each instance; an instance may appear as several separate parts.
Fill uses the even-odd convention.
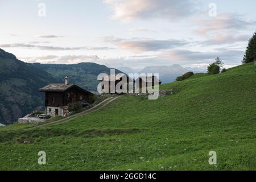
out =
[[[242,63],[250,63],[256,60],[256,32],[253,37],[249,40],[245,55],[243,56]]]

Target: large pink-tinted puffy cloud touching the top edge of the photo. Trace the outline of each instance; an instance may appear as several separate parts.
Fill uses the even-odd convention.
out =
[[[161,18],[177,20],[195,13],[191,0],[105,0],[113,11],[114,19],[130,22],[134,19]]]

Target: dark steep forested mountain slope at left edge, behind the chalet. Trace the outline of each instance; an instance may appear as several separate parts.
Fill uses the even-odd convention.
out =
[[[44,96],[38,89],[59,80],[3,49],[0,52],[0,122],[10,124],[34,109],[42,109]]]

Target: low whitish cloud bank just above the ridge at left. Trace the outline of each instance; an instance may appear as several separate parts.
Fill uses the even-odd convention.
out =
[[[43,55],[38,57],[20,57],[28,63],[43,63],[43,64],[77,64],[83,62],[91,62],[100,59],[96,55]]]

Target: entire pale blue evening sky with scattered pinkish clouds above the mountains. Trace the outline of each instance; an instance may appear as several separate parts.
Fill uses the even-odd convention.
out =
[[[0,0],[0,48],[28,63],[241,64],[256,1]]]

